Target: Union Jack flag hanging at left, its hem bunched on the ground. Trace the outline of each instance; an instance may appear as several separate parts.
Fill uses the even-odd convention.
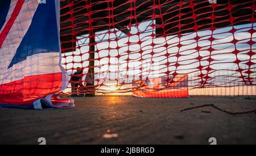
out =
[[[55,95],[68,85],[60,65],[59,0],[0,4],[0,106],[74,107]]]

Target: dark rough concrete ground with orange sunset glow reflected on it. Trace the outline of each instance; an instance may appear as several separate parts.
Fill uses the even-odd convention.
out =
[[[256,144],[256,98],[140,99],[130,96],[75,98],[72,109],[0,108],[0,144]],[[208,111],[202,112],[202,111]],[[104,136],[104,134],[114,134]],[[106,138],[110,137],[110,138]]]

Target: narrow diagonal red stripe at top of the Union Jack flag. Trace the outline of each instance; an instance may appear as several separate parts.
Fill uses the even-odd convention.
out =
[[[11,18],[6,23],[5,28],[3,28],[3,31],[0,34],[0,48],[2,48],[3,42],[5,41],[8,33],[10,32],[11,27],[13,27],[13,24],[18,17],[20,10],[22,9],[24,1],[25,0],[18,0],[14,8],[13,14],[11,14]]]

